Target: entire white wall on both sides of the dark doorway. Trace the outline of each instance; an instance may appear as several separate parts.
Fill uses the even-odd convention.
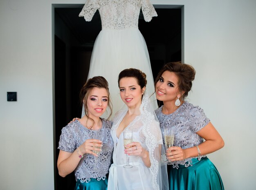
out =
[[[52,3],[84,2],[0,1],[1,190],[54,189]],[[190,102],[226,143],[209,158],[226,190],[254,189],[256,1],[152,2],[184,5],[184,60],[197,71]]]

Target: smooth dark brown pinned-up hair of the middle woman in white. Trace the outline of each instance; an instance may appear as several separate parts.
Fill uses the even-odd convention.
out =
[[[119,76],[118,76],[118,87],[120,87],[119,86],[120,80],[124,77],[134,77],[141,88],[143,88],[144,86],[146,87],[147,85],[146,74],[139,69],[127,68],[121,71],[121,73],[119,73]]]

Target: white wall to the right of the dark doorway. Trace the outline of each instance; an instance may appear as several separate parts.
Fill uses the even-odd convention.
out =
[[[208,156],[225,189],[255,189],[256,1],[153,2],[184,4],[184,61],[197,71],[189,101],[225,140]]]

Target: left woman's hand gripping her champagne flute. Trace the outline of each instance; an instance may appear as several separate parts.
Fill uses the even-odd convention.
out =
[[[94,156],[98,156],[97,154],[92,152],[92,150],[101,151],[101,148],[94,148],[95,146],[98,146],[98,147],[103,146],[102,141],[98,139],[87,139],[83,144],[81,144],[81,146],[78,147],[78,152],[79,154],[82,154],[82,155],[91,154]]]

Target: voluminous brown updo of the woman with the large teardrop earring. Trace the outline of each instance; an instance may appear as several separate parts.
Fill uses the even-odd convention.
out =
[[[159,81],[164,71],[175,73],[175,75],[178,77],[178,88],[181,92],[184,91],[182,99],[187,97],[189,91],[192,88],[192,81],[195,79],[195,69],[193,66],[181,62],[167,63],[159,71],[157,78],[155,79],[155,85]]]

